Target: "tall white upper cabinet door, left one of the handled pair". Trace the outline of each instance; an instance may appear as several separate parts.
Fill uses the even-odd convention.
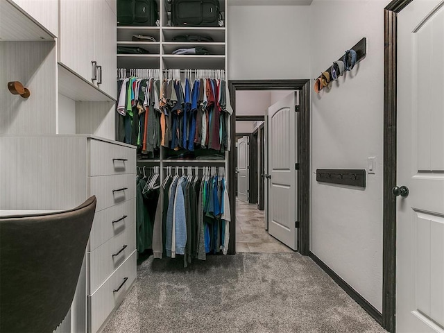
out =
[[[97,1],[60,1],[60,62],[92,81]]]

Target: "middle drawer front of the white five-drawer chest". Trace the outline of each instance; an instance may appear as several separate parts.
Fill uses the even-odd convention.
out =
[[[96,212],[89,237],[89,252],[124,232],[135,221],[135,198]]]

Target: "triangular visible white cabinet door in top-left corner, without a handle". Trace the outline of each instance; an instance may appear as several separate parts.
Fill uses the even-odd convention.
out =
[[[9,0],[58,36],[58,0]]]

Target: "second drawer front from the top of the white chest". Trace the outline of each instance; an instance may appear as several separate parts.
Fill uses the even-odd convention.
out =
[[[136,174],[89,177],[89,195],[97,197],[96,212],[136,197]]]

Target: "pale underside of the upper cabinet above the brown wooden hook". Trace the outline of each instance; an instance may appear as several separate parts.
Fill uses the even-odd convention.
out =
[[[0,40],[48,41],[55,36],[15,4],[0,0]]]

